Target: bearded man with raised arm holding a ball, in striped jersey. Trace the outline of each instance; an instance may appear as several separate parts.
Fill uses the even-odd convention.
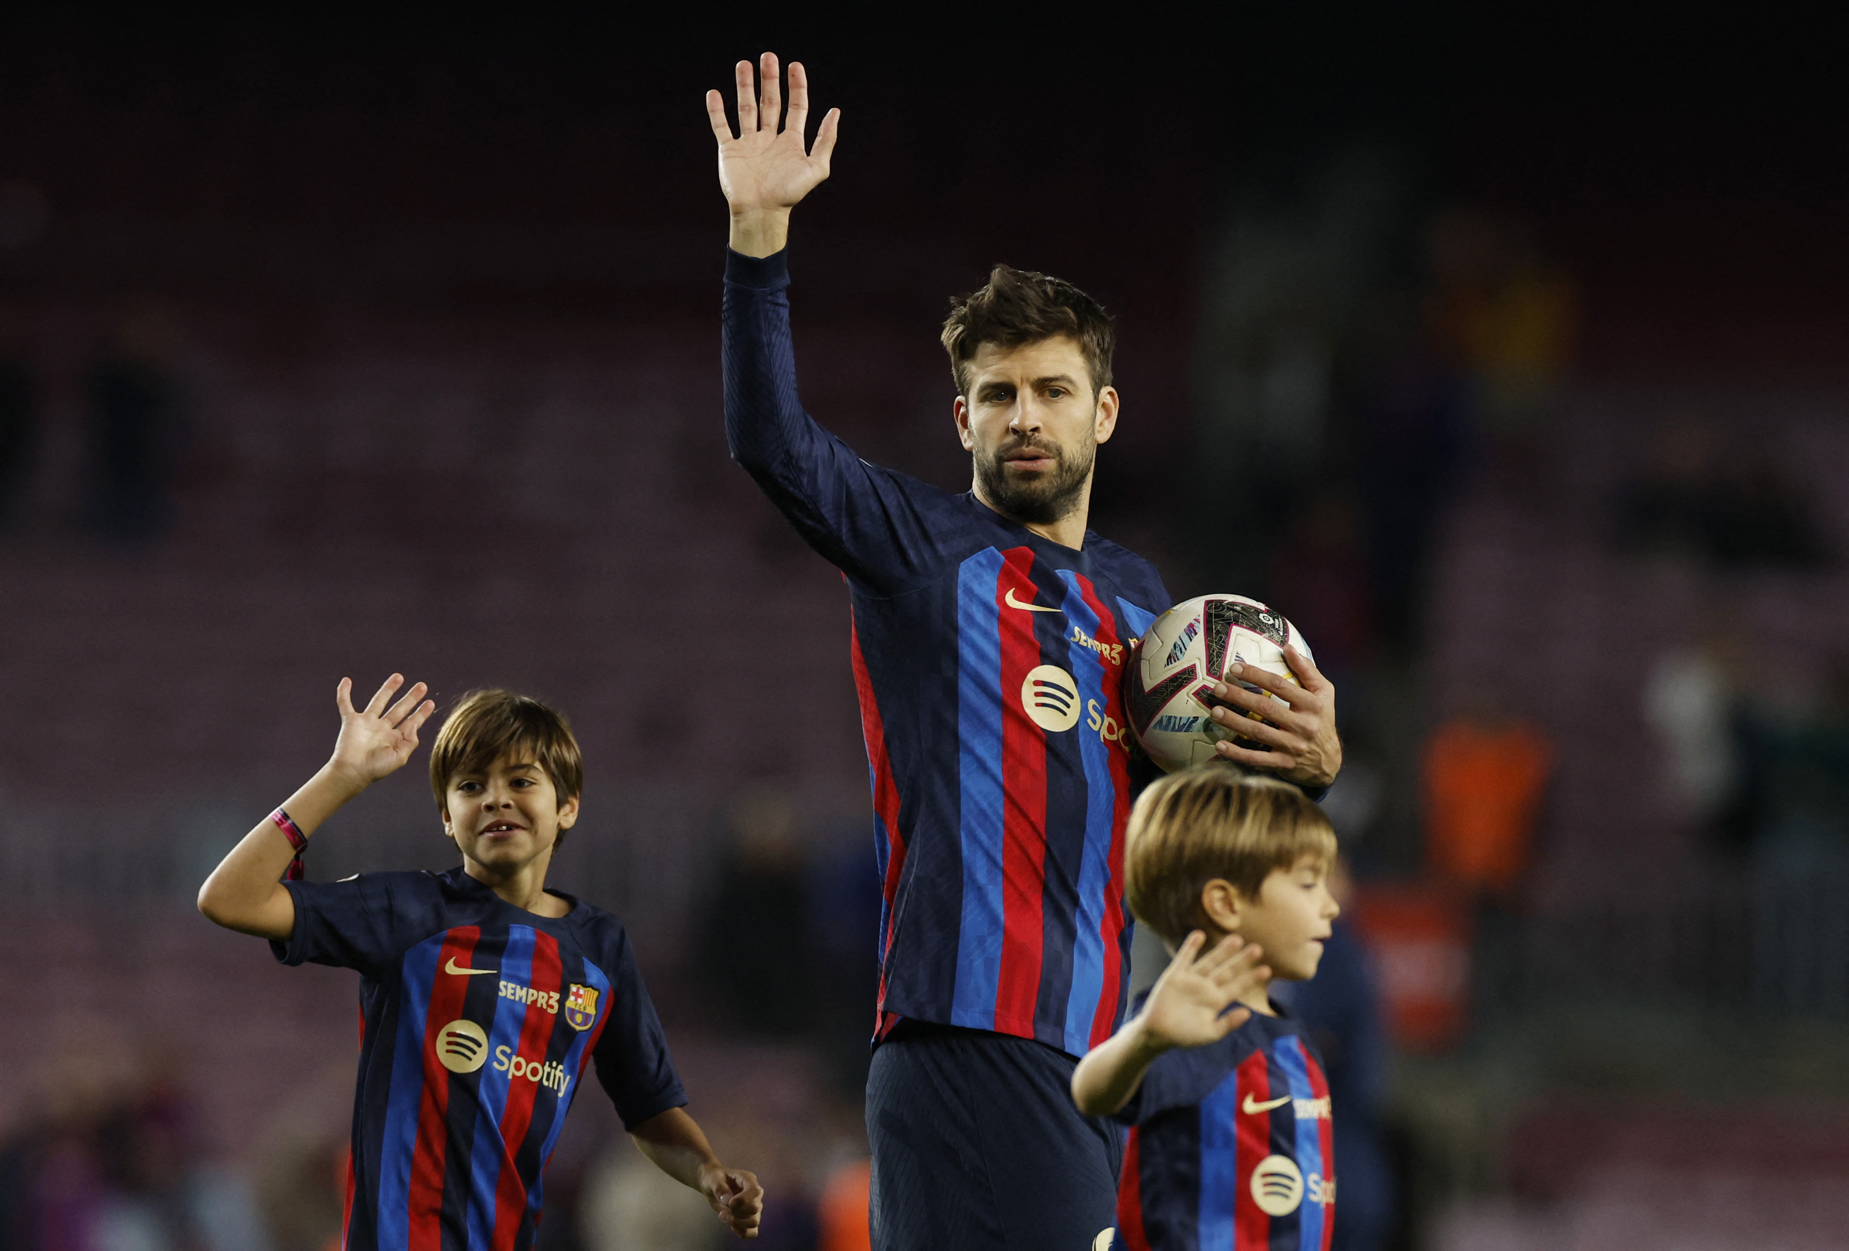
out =
[[[1080,1116],[1078,1057],[1124,1013],[1124,822],[1148,765],[1119,689],[1170,597],[1143,558],[1085,528],[1111,438],[1109,316],[1076,286],[997,266],[952,310],[950,418],[973,486],[869,466],[797,399],[790,211],[828,177],[841,115],[804,142],[808,81],[738,63],[738,133],[706,111],[732,211],[725,418],[732,456],[852,601],[878,867],[880,998],[867,1135],[878,1251],[1082,1251],[1111,1225],[1120,1146]],[[1305,789],[1341,769],[1335,689],[1248,669],[1217,687],[1261,748],[1220,745]]]

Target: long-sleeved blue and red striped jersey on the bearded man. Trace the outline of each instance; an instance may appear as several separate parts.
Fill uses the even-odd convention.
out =
[[[863,462],[797,399],[784,255],[729,255],[732,456],[847,578],[873,782],[880,1029],[1084,1055],[1122,1020],[1133,774],[1119,687],[1169,606],[1154,565],[1071,549]]]

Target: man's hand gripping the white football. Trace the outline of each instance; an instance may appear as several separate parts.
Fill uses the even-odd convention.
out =
[[[1335,732],[1335,684],[1294,647],[1283,649],[1283,658],[1296,682],[1257,665],[1226,667],[1226,680],[1213,687],[1215,698],[1224,704],[1213,710],[1213,721],[1263,747],[1215,743],[1215,750],[1220,759],[1278,774],[1304,787],[1311,798],[1320,798],[1318,793],[1328,791],[1342,771],[1342,739]],[[1243,682],[1259,689],[1248,691]]]

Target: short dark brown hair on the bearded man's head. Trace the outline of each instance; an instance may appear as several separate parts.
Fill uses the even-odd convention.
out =
[[[1065,334],[1078,344],[1091,373],[1091,394],[1111,384],[1117,327],[1096,299],[1071,283],[998,264],[989,285],[950,301],[943,349],[950,353],[956,394],[969,395],[969,362],[984,344],[1021,347]]]

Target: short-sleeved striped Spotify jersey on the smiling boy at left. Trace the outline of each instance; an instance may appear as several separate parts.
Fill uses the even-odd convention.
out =
[[[616,917],[462,868],[287,885],[277,959],[362,974],[344,1251],[525,1251],[590,1059],[627,1127],[686,1103]]]

